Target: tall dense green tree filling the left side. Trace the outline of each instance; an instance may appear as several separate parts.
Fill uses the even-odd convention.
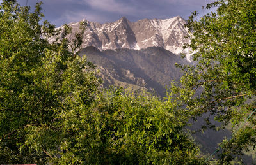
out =
[[[67,39],[49,44],[55,27],[40,24],[40,10],[40,3],[33,13],[16,1],[0,5],[1,163],[45,162],[47,151],[60,142],[51,121],[92,104],[99,86],[94,66],[70,51],[79,47],[79,35],[75,47]],[[33,131],[42,134],[36,137],[41,143],[29,148]]]

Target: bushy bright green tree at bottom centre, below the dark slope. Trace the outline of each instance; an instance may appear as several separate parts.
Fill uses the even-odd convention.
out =
[[[92,108],[61,115],[65,139],[58,151],[61,157],[52,162],[204,164],[198,147],[184,132],[189,113],[176,111],[175,96],[169,93],[160,100],[120,89],[108,91]]]

